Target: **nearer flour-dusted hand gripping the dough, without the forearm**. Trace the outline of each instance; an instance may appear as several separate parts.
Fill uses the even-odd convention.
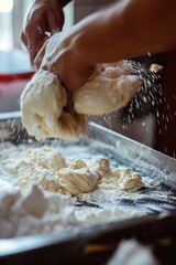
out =
[[[79,51],[78,32],[70,30],[55,33],[38,52],[34,64],[56,74],[67,91],[79,88],[95,72],[88,59]]]

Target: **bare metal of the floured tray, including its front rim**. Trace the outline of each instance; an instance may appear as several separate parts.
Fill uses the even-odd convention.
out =
[[[0,240],[0,257],[8,258],[18,253],[29,253],[32,250],[50,247],[51,245],[57,245],[62,250],[63,245],[70,244],[74,241],[79,241],[79,244],[82,244],[95,236],[108,233],[109,230],[111,233],[113,233],[113,229],[120,232],[128,227],[133,227],[134,224],[139,226],[141,222],[146,223],[151,214],[152,216],[156,214],[158,220],[161,212],[165,210],[174,211],[176,209],[176,160],[95,123],[89,123],[89,130],[86,137],[79,140],[63,141],[51,139],[44,142],[35,142],[22,127],[19,112],[0,114],[0,139],[1,141],[11,141],[15,145],[22,142],[28,142],[28,145],[51,145],[54,141],[58,146],[64,147],[64,149],[72,145],[82,146],[88,148],[92,155],[106,155],[114,166],[124,165],[131,167],[135,171],[140,171],[142,176],[158,181],[158,186],[154,188],[141,189],[130,198],[124,194],[120,199],[117,198],[113,203],[108,200],[105,203],[105,201],[101,201],[102,199],[95,202],[90,199],[86,201],[77,200],[75,204],[77,210],[82,208],[106,208],[107,205],[111,206],[111,204],[117,208],[136,208],[145,211],[146,215],[142,218],[132,218],[118,223],[107,222],[98,225],[88,225],[79,232],[70,231],[61,235]],[[33,244],[32,242],[35,243]]]

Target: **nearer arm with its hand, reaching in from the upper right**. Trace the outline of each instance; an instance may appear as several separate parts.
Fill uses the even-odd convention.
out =
[[[175,12],[175,0],[117,1],[53,35],[36,65],[57,74],[68,91],[77,89],[99,63],[176,49]]]

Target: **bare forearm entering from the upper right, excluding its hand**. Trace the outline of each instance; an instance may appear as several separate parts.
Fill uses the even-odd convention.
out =
[[[175,10],[174,0],[118,1],[75,26],[75,45],[90,64],[172,50]]]

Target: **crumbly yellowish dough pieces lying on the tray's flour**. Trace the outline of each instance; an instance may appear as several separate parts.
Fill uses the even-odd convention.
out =
[[[130,168],[111,167],[107,157],[70,160],[55,148],[9,151],[1,161],[22,190],[35,183],[44,190],[79,195],[98,189],[132,190],[144,187],[141,174]]]

